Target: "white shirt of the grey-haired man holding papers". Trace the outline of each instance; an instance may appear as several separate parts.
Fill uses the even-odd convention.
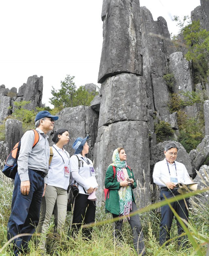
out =
[[[175,168],[175,164],[176,164],[176,168]],[[189,177],[189,174],[186,170],[185,165],[177,161],[175,161],[175,164],[174,163],[170,164],[168,162],[168,165],[169,165],[169,169],[168,169],[166,158],[163,161],[157,162],[154,166],[154,171],[153,171],[154,183],[160,186],[160,188],[166,187],[165,183],[170,182],[171,177],[177,178],[178,183],[183,183],[183,184],[192,183],[193,181]],[[169,170],[170,170],[170,175],[169,175]],[[177,182],[175,182],[175,184],[177,184]]]

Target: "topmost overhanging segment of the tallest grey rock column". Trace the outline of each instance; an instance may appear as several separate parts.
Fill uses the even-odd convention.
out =
[[[98,82],[122,72],[142,75],[139,1],[103,0]]]

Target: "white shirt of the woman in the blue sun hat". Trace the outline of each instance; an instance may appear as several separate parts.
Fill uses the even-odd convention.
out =
[[[82,160],[80,162],[81,166],[80,169],[78,169],[78,158]],[[84,189],[87,191],[90,187],[93,187],[90,182],[88,181],[88,178],[92,176],[90,172],[89,167],[93,167],[92,161],[87,158],[86,156],[83,157],[81,154],[72,155],[70,158],[70,172],[71,172],[71,184],[76,181],[78,183],[78,189],[79,193],[81,194],[87,194],[84,192]],[[83,163],[83,166],[82,166]],[[94,179],[96,180],[96,177],[93,175]]]

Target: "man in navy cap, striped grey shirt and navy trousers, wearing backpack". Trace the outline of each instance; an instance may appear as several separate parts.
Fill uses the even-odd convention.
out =
[[[50,148],[47,132],[53,130],[57,116],[48,111],[40,111],[35,118],[39,141],[33,147],[35,132],[27,131],[21,138],[18,156],[18,172],[15,176],[11,204],[11,215],[8,221],[8,240],[15,235],[14,255],[26,253],[28,242],[39,223],[40,205],[47,185]],[[24,235],[26,234],[26,235]]]

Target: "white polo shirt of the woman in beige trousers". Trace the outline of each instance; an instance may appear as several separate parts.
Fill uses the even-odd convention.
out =
[[[52,150],[54,155],[49,166],[47,186],[54,186],[67,190],[70,184],[70,176],[65,176],[64,166],[67,166],[70,171],[70,155],[66,150],[58,148],[55,144],[53,145]]]

